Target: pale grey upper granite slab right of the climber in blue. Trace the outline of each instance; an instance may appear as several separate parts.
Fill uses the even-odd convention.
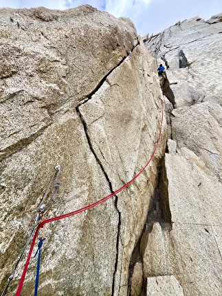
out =
[[[205,21],[194,17],[178,22],[146,42],[158,63],[168,64],[167,76],[177,107],[210,101],[221,105],[219,73],[222,14]]]

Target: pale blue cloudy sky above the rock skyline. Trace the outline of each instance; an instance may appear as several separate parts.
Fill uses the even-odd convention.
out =
[[[51,9],[67,9],[90,4],[115,17],[129,17],[137,33],[158,33],[177,21],[202,17],[210,19],[222,12],[222,0],[0,0],[0,7],[31,8],[44,6]]]

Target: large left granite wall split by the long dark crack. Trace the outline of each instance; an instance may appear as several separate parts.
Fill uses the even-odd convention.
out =
[[[162,92],[129,19],[91,6],[0,10],[1,286],[6,284],[55,165],[47,218],[80,209],[129,182],[150,158]],[[47,224],[39,295],[127,295],[129,264],[157,186],[162,141],[128,189]],[[36,246],[35,246],[36,250]],[[25,256],[8,290],[14,295]],[[34,289],[31,260],[23,295]],[[56,291],[56,294],[55,294]]]

